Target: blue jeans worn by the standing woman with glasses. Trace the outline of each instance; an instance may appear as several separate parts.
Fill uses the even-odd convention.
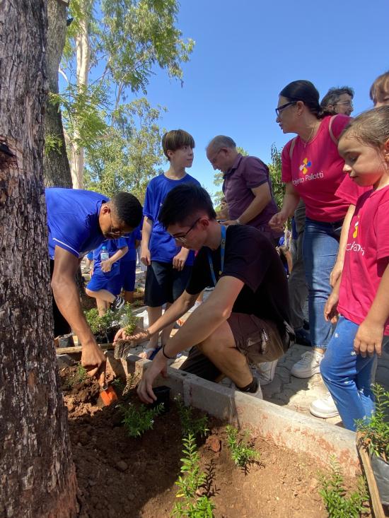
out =
[[[308,284],[310,341],[313,347],[326,348],[332,324],[324,319],[324,307],[331,293],[330,273],[334,267],[342,221],[322,223],[306,218],[303,261]]]

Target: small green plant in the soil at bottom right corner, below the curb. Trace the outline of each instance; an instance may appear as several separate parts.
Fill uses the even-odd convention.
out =
[[[366,510],[364,502],[368,493],[364,478],[358,481],[358,490],[347,496],[342,470],[334,456],[330,457],[330,473],[320,473],[322,488],[319,490],[328,512],[328,518],[359,518]]]

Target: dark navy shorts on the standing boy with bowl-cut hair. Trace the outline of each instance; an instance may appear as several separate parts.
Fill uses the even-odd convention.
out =
[[[182,271],[171,263],[151,261],[147,266],[144,303],[149,307],[159,307],[166,302],[174,302],[187,287],[192,266],[184,266]]]

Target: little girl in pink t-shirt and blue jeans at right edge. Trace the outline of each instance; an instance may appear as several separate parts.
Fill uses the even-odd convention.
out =
[[[320,372],[344,426],[373,411],[371,370],[389,335],[389,106],[365,112],[339,140],[347,172],[360,187],[371,187],[356,203],[344,268],[325,305],[335,322]]]

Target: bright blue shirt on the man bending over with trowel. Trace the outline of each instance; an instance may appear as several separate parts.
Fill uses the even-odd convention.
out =
[[[109,201],[107,196],[58,187],[45,189],[45,195],[51,259],[56,246],[83,257],[107,239],[98,223],[100,208]]]

